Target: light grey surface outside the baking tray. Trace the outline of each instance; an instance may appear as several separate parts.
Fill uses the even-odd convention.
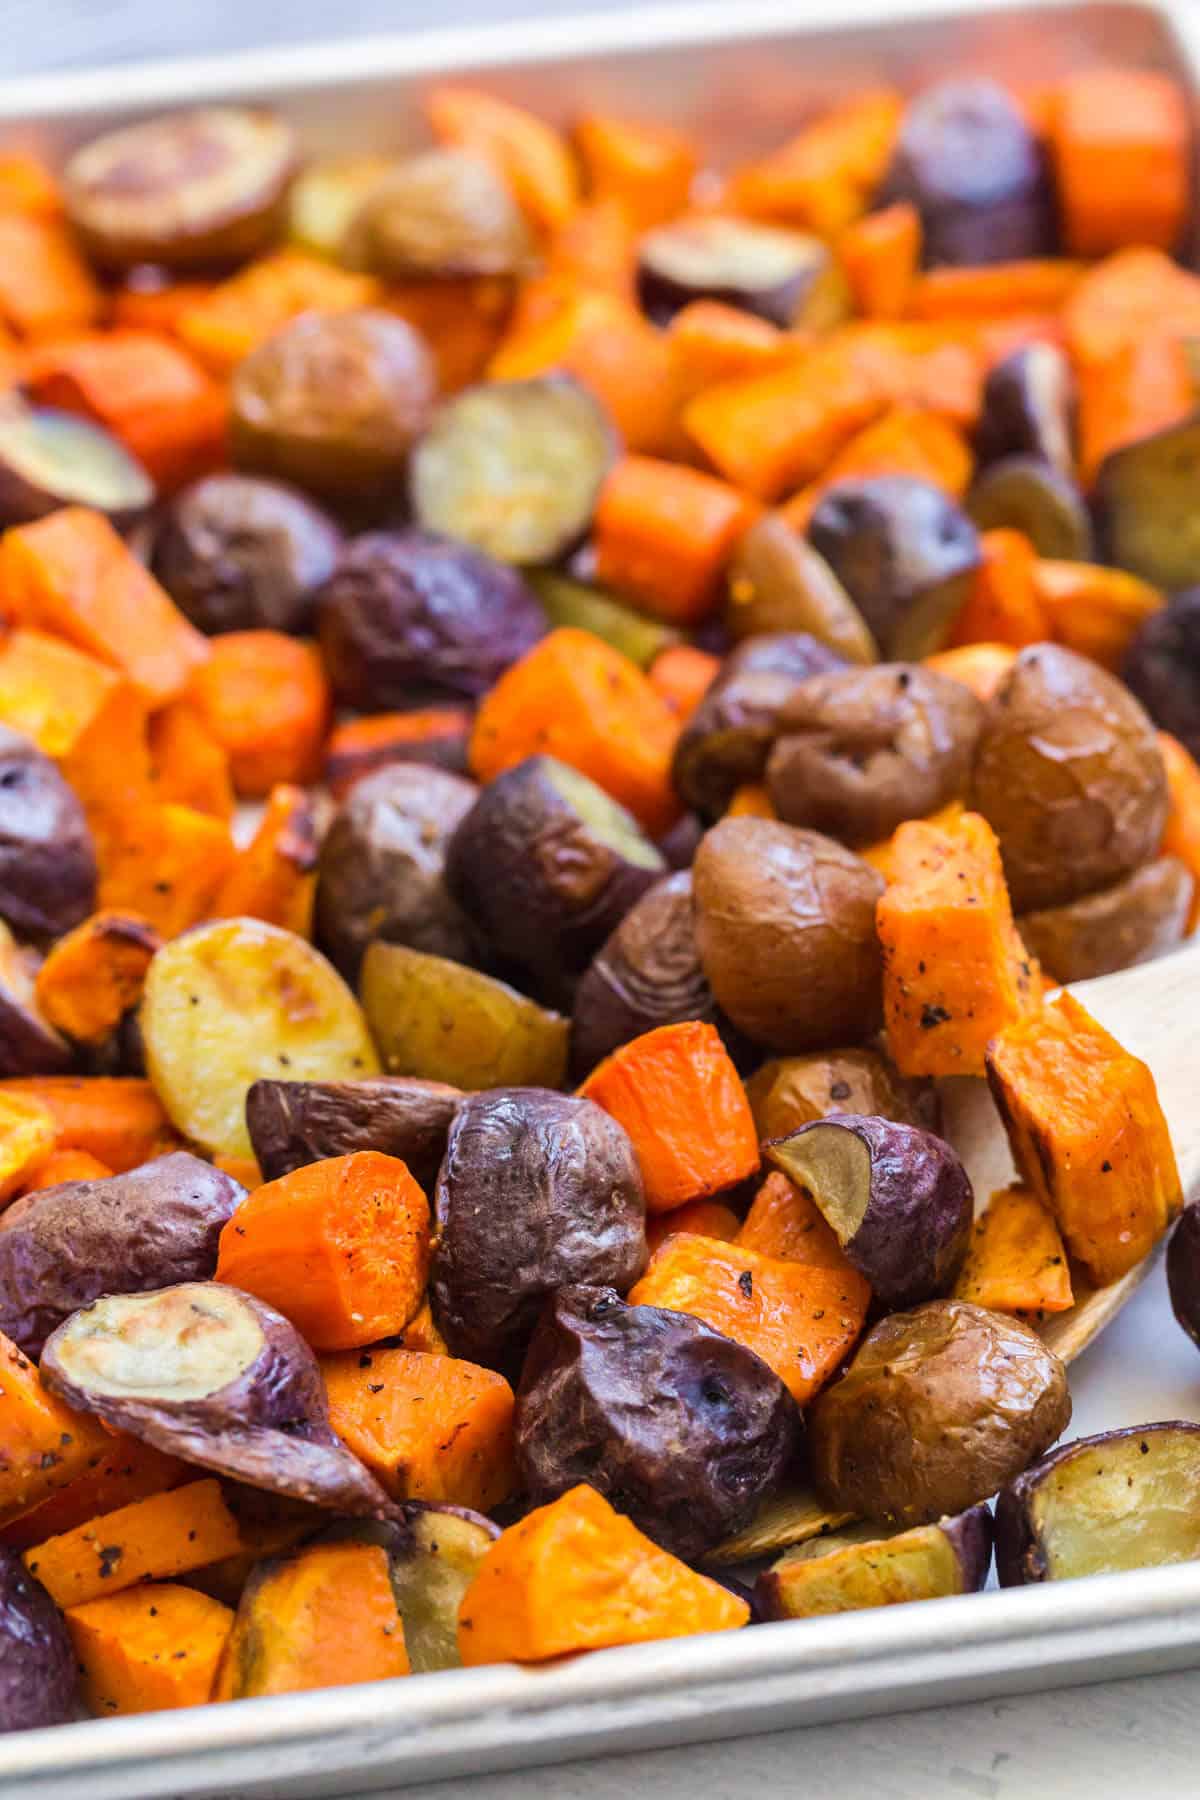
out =
[[[628,0],[587,5],[619,13]],[[16,76],[561,11],[556,0],[453,0],[450,7],[417,0],[0,0],[0,70]],[[1200,1674],[1182,1674],[407,1793],[408,1800],[450,1793],[529,1800],[531,1787],[554,1800],[806,1793],[820,1800],[1159,1800],[1196,1791],[1198,1759]]]

